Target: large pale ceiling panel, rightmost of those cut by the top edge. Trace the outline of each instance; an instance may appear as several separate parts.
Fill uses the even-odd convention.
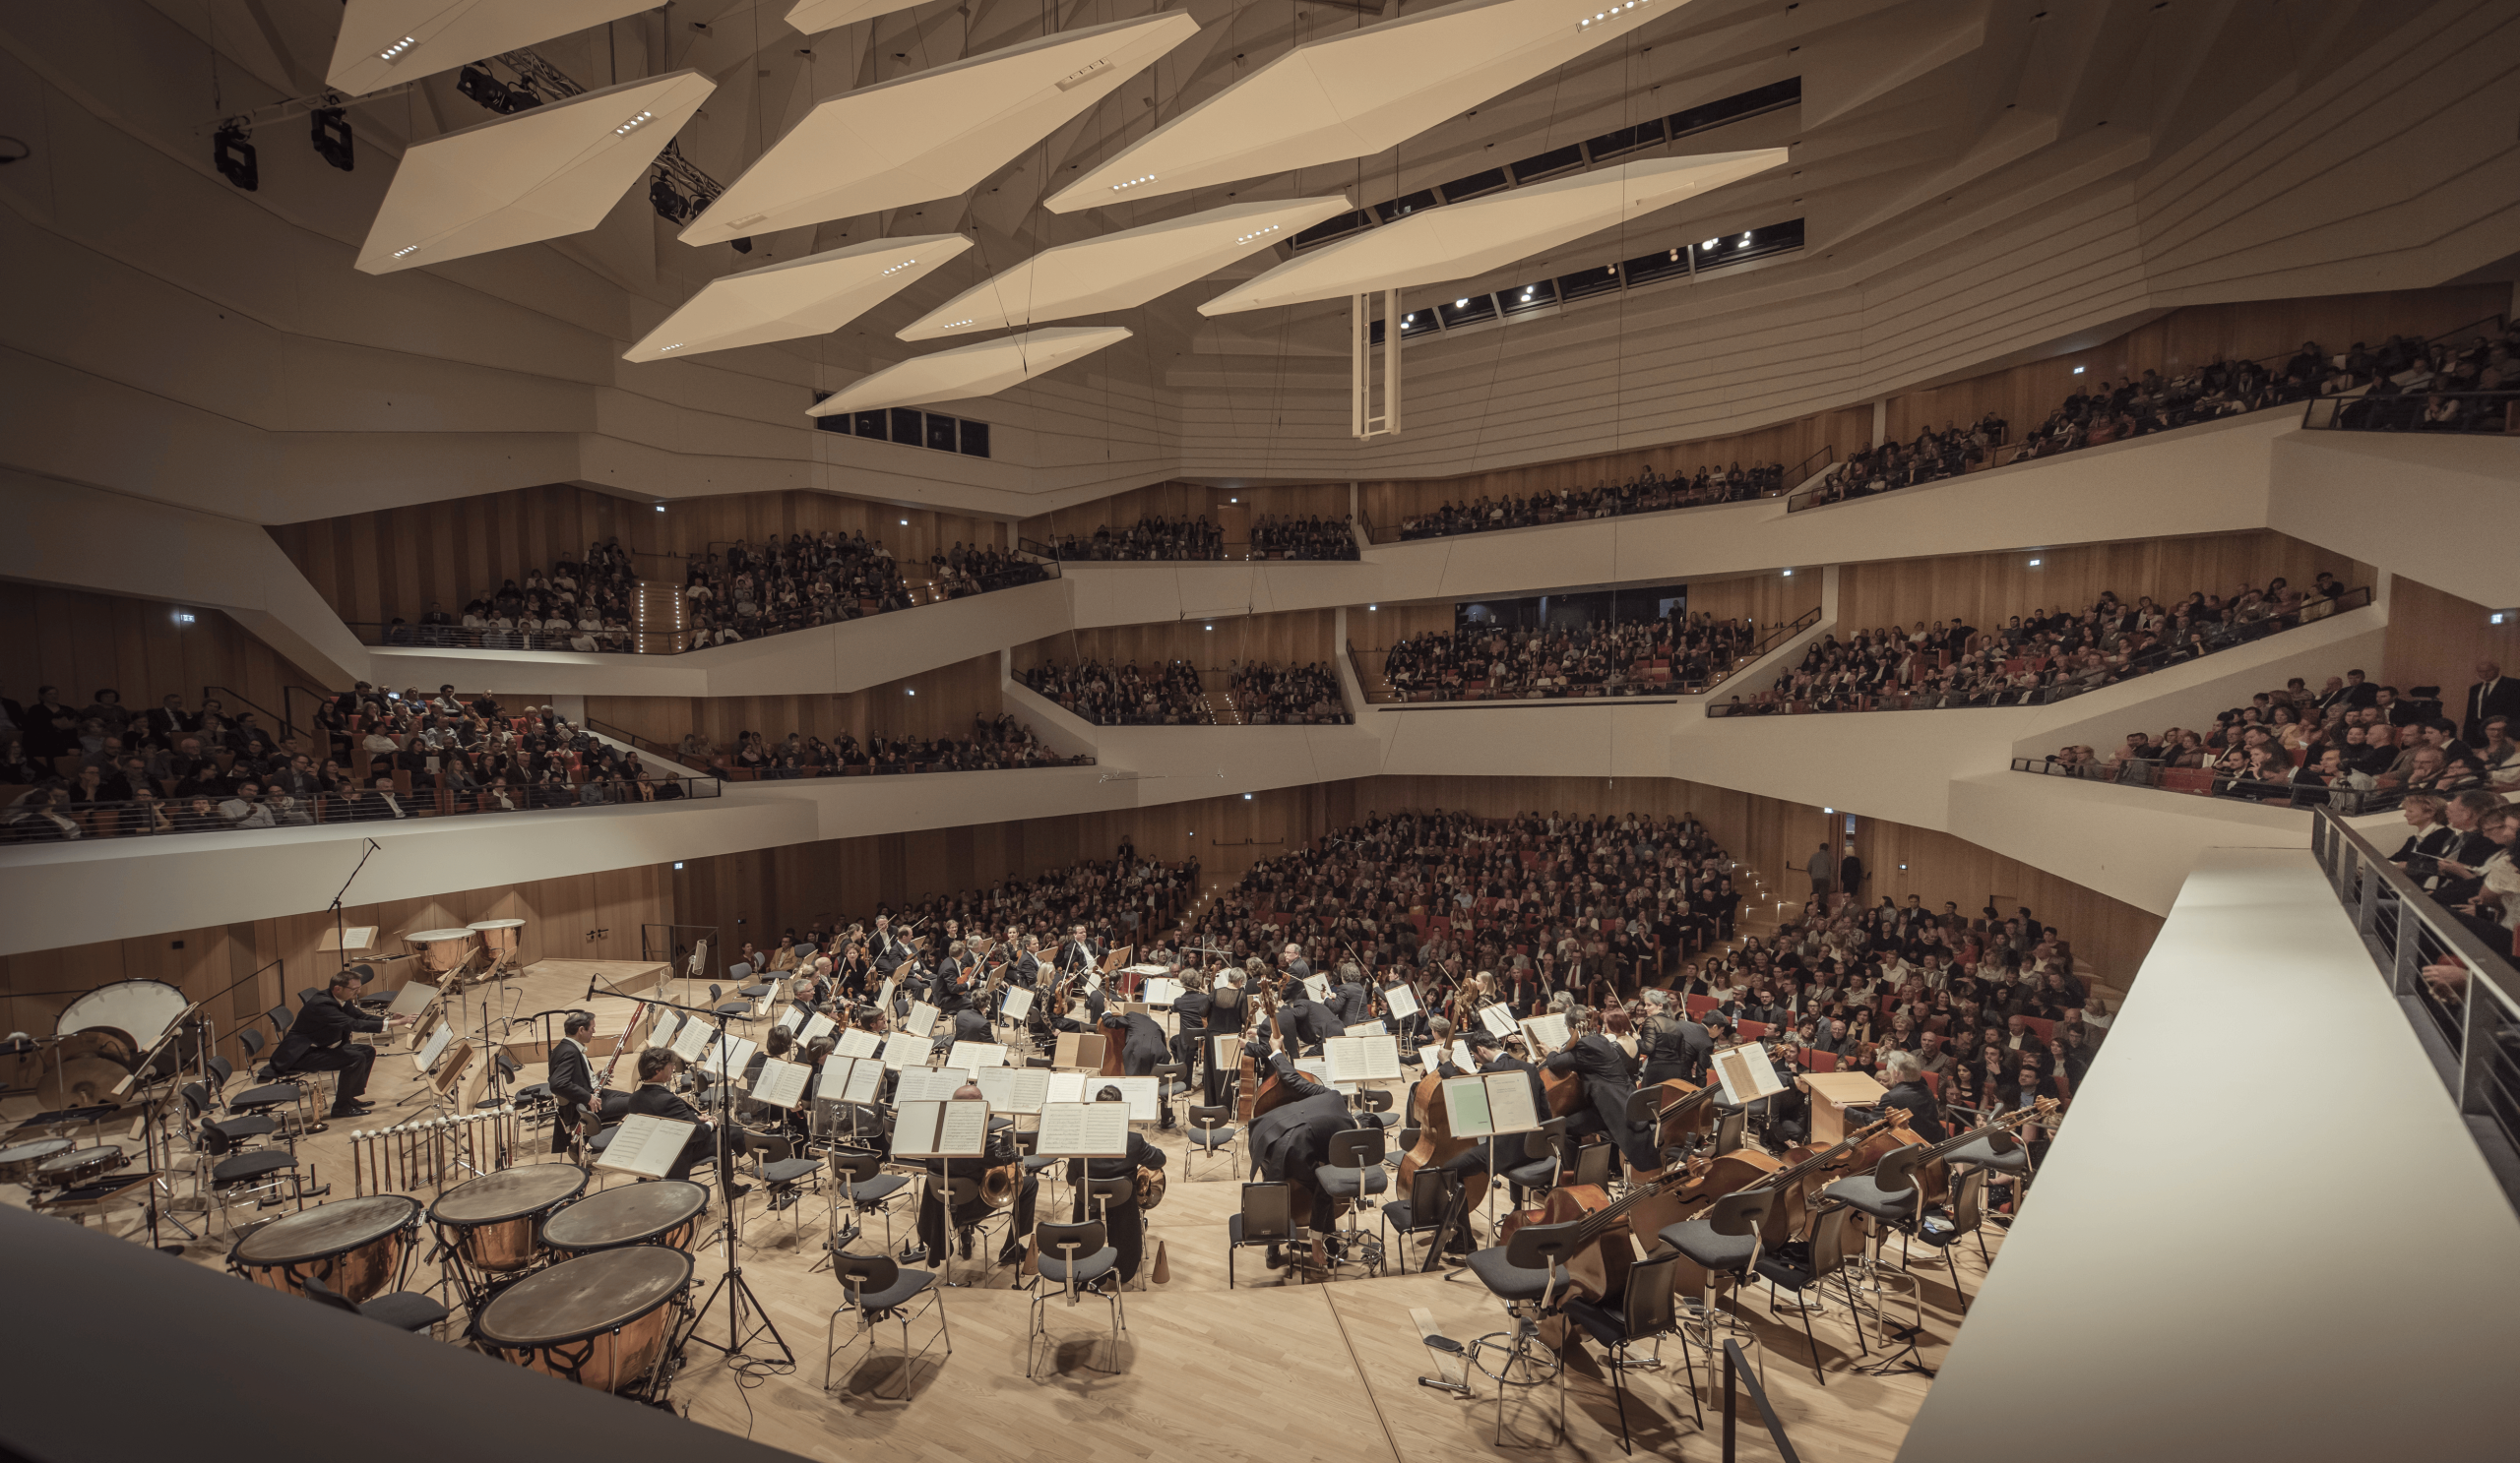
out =
[[[1618,40],[1688,0],[1462,0],[1313,40],[1048,199],[1071,214],[1361,159]]]

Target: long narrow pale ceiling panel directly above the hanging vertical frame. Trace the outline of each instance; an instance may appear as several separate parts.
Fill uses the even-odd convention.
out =
[[[1341,300],[1396,285],[1441,285],[1527,259],[1653,209],[1693,199],[1784,164],[1787,149],[1653,159],[1555,179],[1467,204],[1409,214],[1396,224],[1295,254],[1235,285],[1200,315]]]

